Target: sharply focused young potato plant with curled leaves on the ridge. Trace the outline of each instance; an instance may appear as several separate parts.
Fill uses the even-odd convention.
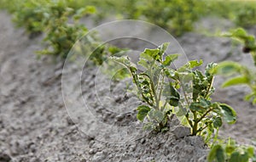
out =
[[[112,57],[131,72],[137,87],[138,97],[143,105],[137,107],[137,119],[144,121],[144,129],[168,130],[172,115],[190,126],[191,134],[201,135],[209,140],[214,130],[222,126],[223,120],[232,124],[236,112],[229,105],[212,102],[212,69],[208,64],[205,73],[195,70],[202,61],[189,61],[179,69],[170,68],[178,54],[166,55],[168,43],[156,49],[145,49],[137,64],[128,57]]]

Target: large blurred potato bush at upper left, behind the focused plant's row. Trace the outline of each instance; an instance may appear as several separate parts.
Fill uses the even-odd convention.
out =
[[[86,27],[79,24],[79,19],[94,12],[95,8],[91,6],[74,10],[68,8],[64,1],[49,3],[42,20],[47,47],[38,53],[58,55],[65,59],[73,43],[87,32]],[[69,18],[73,23],[68,22]]]

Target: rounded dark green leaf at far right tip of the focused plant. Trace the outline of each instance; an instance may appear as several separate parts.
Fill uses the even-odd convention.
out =
[[[236,122],[236,111],[224,103],[220,103],[219,106],[221,108],[221,113],[224,116],[224,120],[229,124],[234,124]]]

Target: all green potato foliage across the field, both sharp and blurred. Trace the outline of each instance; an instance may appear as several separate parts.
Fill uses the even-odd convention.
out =
[[[192,31],[194,22],[204,15],[224,17],[238,26],[256,25],[256,2],[203,1],[203,0],[1,0],[1,8],[13,15],[18,27],[25,28],[31,36],[44,36],[45,49],[40,54],[50,54],[62,59],[74,42],[87,33],[79,20],[88,14],[95,14],[97,20],[117,15],[119,18],[146,20],[160,25],[176,36]],[[96,6],[96,8],[94,7]],[[97,10],[97,12],[96,12]],[[109,12],[111,10],[111,12]],[[256,65],[255,37],[239,28],[225,33],[242,43],[243,52],[251,53]],[[166,55],[168,43],[156,49],[145,49],[137,64],[123,57],[124,49],[103,45],[95,35],[84,37],[81,54],[95,49],[90,55],[94,65],[108,64],[113,75],[115,64],[108,57],[125,66],[115,74],[115,80],[131,76],[137,87],[137,96],[143,105],[137,108],[137,119],[144,122],[144,129],[150,131],[168,131],[169,121],[176,115],[184,126],[189,126],[191,135],[200,135],[206,142],[212,142],[209,161],[256,161],[252,147],[237,145],[234,141],[216,142],[218,129],[223,121],[236,122],[236,112],[225,103],[212,102],[214,75],[228,75],[223,87],[247,85],[252,92],[246,99],[256,103],[256,74],[244,65],[236,62],[207,64],[205,71],[197,70],[202,60],[192,60],[182,67],[171,68],[178,54]],[[119,56],[113,56],[119,53]],[[131,75],[128,75],[128,72]],[[215,137],[212,138],[212,137]]]

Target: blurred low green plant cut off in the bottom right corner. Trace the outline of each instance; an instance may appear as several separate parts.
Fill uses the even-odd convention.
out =
[[[209,162],[248,162],[256,161],[254,148],[240,146],[232,139],[214,145],[207,156]]]

